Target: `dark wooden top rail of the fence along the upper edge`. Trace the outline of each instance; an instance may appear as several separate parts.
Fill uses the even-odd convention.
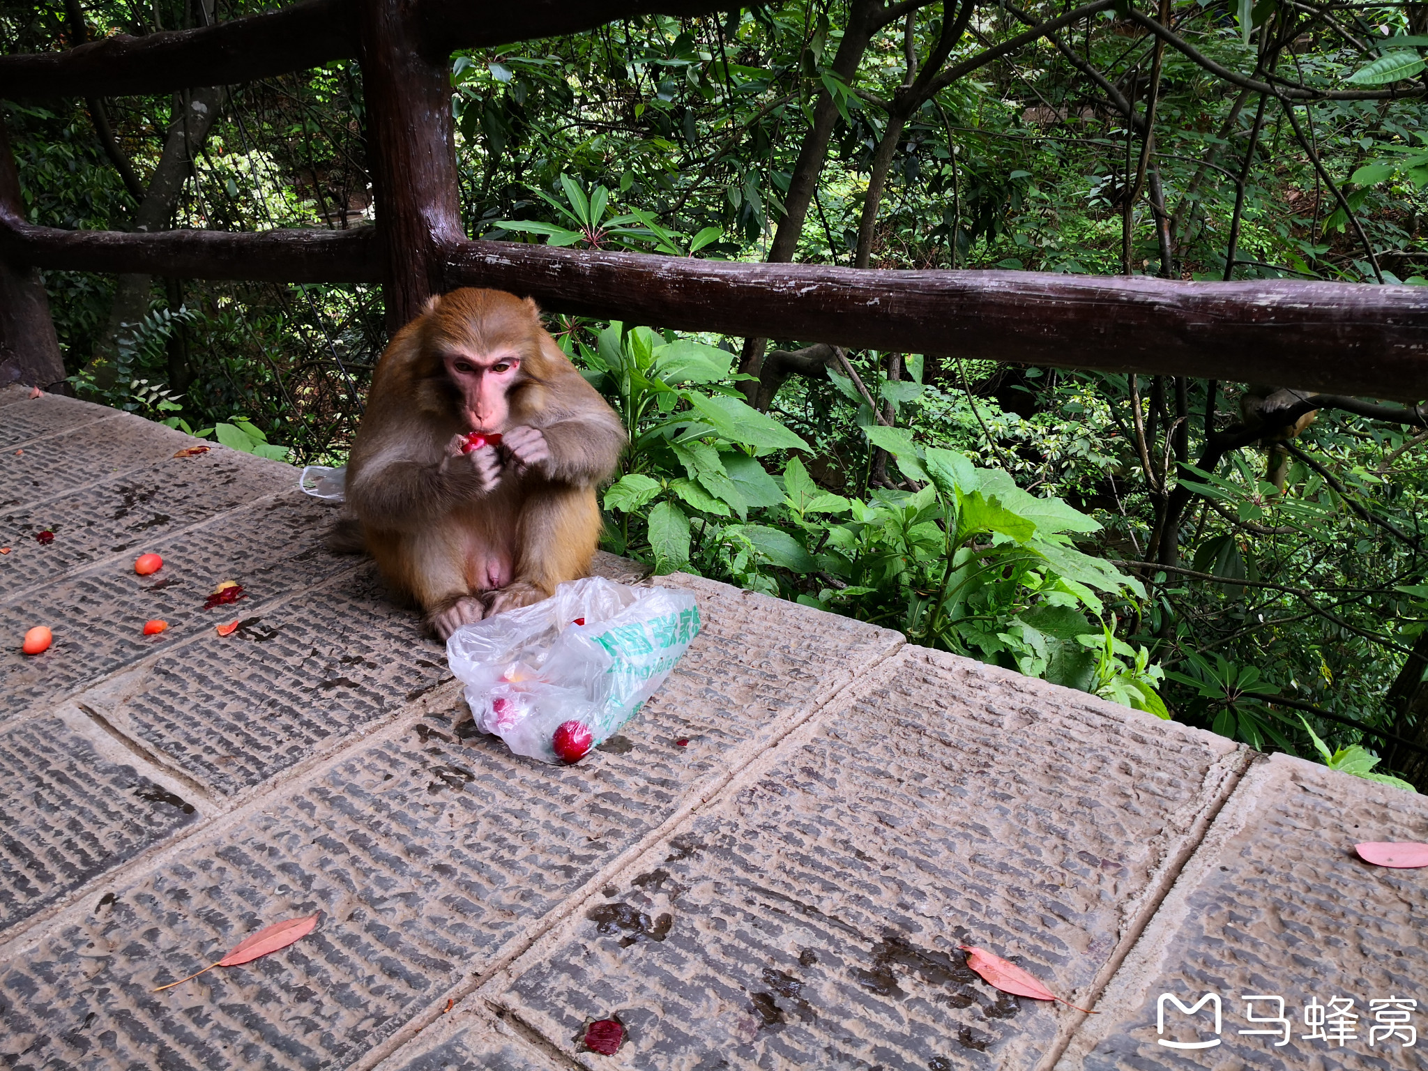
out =
[[[420,0],[423,51],[444,59],[533,37],[578,33],[641,14],[694,16],[731,0]],[[353,0],[301,0],[264,14],[147,37],[117,34],[69,51],[0,56],[0,97],[123,96],[231,86],[357,56]]]

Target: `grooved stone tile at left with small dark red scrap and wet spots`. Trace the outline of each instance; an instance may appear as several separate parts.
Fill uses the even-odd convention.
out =
[[[297,483],[290,466],[236,450],[217,447],[200,457],[174,458],[169,448],[169,454],[37,506],[0,510],[0,541],[11,548],[0,558],[4,598],[110,554],[137,557],[180,528]],[[54,531],[54,541],[41,545],[34,536],[46,528]],[[127,568],[131,561],[126,557],[121,564]]]

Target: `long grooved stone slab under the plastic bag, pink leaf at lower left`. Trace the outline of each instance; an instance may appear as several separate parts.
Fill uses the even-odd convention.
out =
[[[721,584],[661,583],[695,591],[704,631],[593,761],[516,758],[451,717],[378,734],[151,870],[91,884],[89,914],[13,947],[0,1062],[343,1067],[440,1011],[451,987],[898,643]],[[207,720],[200,704],[193,718]],[[317,932],[290,950],[151,992],[318,910]]]

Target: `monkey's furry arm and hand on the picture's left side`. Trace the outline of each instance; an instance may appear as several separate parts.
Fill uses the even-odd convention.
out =
[[[490,447],[463,454],[457,440],[437,461],[378,453],[347,483],[347,500],[364,524],[391,531],[416,531],[456,506],[490,494],[500,481],[500,464]]]

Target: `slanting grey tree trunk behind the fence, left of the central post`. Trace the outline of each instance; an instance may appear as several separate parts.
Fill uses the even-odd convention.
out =
[[[149,177],[149,188],[139,204],[139,211],[134,213],[133,230],[141,233],[169,230],[178,206],[178,196],[183,193],[184,181],[193,169],[194,154],[207,140],[224,96],[224,87],[210,86],[194,90],[187,100],[180,97],[176,101],[174,117],[164,137],[164,151],[159,157],[154,173]],[[120,344],[133,340],[139,324],[149,316],[153,291],[153,276],[123,274],[119,277],[109,323],[96,348],[94,363],[90,366],[96,383],[101,387],[114,386],[114,357],[119,354]]]

